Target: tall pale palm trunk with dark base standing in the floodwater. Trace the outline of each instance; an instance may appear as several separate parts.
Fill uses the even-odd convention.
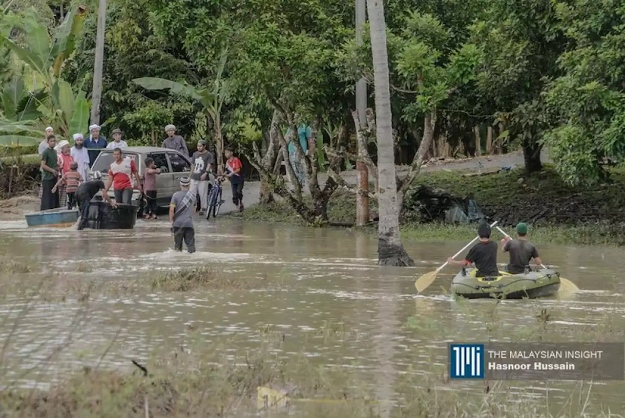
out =
[[[392,136],[386,23],[382,0],[367,0],[376,93],[376,138],[379,190],[377,257],[379,265],[414,266],[399,234],[399,206]]]

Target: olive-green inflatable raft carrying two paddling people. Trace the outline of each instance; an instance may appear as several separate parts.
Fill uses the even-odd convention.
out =
[[[551,296],[560,288],[560,274],[550,268],[527,273],[499,272],[498,277],[475,277],[476,268],[466,267],[451,283],[451,292],[467,298],[521,299]]]

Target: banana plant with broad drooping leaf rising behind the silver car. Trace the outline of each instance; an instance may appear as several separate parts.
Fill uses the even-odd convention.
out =
[[[227,49],[221,52],[219,66],[211,88],[199,88],[187,83],[178,83],[158,77],[143,77],[133,80],[134,83],[148,90],[169,90],[174,94],[181,94],[198,101],[204,106],[206,113],[212,120],[212,129],[215,137],[215,148],[217,151],[217,171],[222,173],[224,161],[224,137],[222,134],[221,108],[227,96],[227,83],[222,79],[227,61]]]

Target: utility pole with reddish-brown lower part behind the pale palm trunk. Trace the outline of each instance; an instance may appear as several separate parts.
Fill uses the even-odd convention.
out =
[[[362,45],[362,32],[367,19],[365,0],[356,0],[356,45]],[[356,83],[356,110],[360,126],[356,130],[361,130],[367,126],[367,81],[362,77]],[[366,144],[365,144],[366,146]],[[357,156],[361,160],[366,150],[362,150],[357,144]],[[356,171],[358,176],[358,190],[356,193],[356,225],[361,227],[369,222],[369,170],[362,161],[356,161]]]

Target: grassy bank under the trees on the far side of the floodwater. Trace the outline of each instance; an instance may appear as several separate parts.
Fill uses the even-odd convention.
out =
[[[422,174],[415,188],[425,185],[454,196],[473,195],[486,215],[499,220],[502,226],[507,225],[508,233],[512,233],[510,226],[516,222],[529,222],[531,239],[536,243],[625,245],[625,175],[621,171],[614,171],[612,183],[592,188],[565,185],[549,166],[531,175],[523,170],[474,177],[462,175],[461,171],[451,170]],[[336,191],[327,210],[333,222],[353,222],[356,198],[347,191]],[[372,205],[372,217],[376,213],[377,207]],[[284,201],[250,206],[231,216],[304,225]],[[370,231],[375,228],[365,227]],[[426,241],[469,240],[474,238],[475,229],[474,225],[414,222],[413,216],[401,224],[402,238]]]

